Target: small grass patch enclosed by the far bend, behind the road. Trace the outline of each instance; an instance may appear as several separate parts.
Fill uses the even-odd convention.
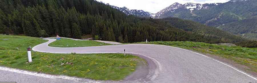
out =
[[[64,38],[48,44],[48,46],[52,46],[52,47],[87,47],[87,46],[106,46],[106,45],[111,45],[111,44],[97,42],[97,41],[76,41],[76,40],[64,39]]]

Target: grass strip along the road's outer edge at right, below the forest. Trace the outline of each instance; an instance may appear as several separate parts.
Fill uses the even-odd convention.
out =
[[[145,42],[137,42],[143,43]],[[160,44],[166,46],[175,46],[179,48],[195,50],[201,53],[220,56],[248,66],[246,70],[257,72],[257,48],[246,48],[240,46],[220,46],[202,42],[179,42],[179,41],[156,41],[147,44]]]

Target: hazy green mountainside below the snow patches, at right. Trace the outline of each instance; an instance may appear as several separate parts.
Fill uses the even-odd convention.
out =
[[[180,6],[172,12],[162,13],[160,18],[176,17],[192,20],[242,37],[256,39],[256,4],[256,0],[237,0],[236,2],[231,0],[210,6],[208,9],[194,9],[193,11]]]

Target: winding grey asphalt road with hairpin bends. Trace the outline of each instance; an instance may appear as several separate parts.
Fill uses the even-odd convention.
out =
[[[156,70],[149,72],[149,80],[129,80],[116,82],[153,82],[153,83],[257,83],[256,77],[250,76],[232,66],[181,48],[150,44],[127,44],[112,46],[59,48],[49,47],[47,44],[55,41],[39,44],[34,51],[51,53],[135,53],[147,56],[154,61]],[[0,80],[28,82],[76,82],[73,80],[51,79],[39,76],[13,73],[0,70]],[[3,72],[3,73],[2,73]],[[9,76],[3,77],[4,74]],[[14,78],[15,77],[15,78]],[[16,78],[17,77],[17,78]],[[87,80],[79,82],[89,82]],[[103,82],[103,81],[102,81]],[[107,81],[115,82],[115,81]],[[77,82],[76,82],[77,83]]]

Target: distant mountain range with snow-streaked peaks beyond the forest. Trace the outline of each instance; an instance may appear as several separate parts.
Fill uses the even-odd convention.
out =
[[[231,0],[226,3],[174,3],[156,14],[119,8],[127,15],[163,19],[177,17],[217,27],[242,37],[257,40],[257,0]],[[113,7],[115,8],[115,7]],[[118,9],[118,8],[116,8]]]

